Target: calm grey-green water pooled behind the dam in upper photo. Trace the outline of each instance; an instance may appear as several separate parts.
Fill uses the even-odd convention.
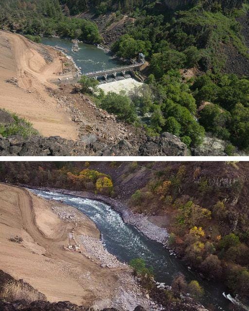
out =
[[[94,45],[79,42],[79,51],[72,52],[70,39],[43,37],[42,43],[52,47],[59,46],[67,49],[67,55],[71,56],[82,73],[116,68],[122,65],[121,62],[113,59],[107,52]]]

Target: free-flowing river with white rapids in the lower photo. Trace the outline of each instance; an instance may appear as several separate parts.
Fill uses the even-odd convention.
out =
[[[181,272],[187,281],[196,279],[204,288],[205,294],[200,302],[205,307],[213,305],[217,311],[228,311],[229,301],[222,295],[225,291],[222,284],[203,280],[195,272],[189,271],[181,260],[171,256],[160,243],[149,240],[135,227],[125,224],[121,215],[109,205],[53,191],[30,190],[45,199],[62,200],[86,214],[100,230],[108,252],[120,261],[128,263],[133,258],[143,258],[148,265],[153,266],[155,279],[168,285]]]

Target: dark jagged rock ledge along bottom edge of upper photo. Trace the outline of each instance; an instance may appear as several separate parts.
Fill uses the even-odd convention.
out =
[[[160,137],[146,139],[140,145],[125,139],[120,140],[118,144],[107,144],[100,140],[87,143],[58,136],[29,138],[0,136],[0,155],[186,155],[187,153],[187,146],[172,134],[163,133]]]

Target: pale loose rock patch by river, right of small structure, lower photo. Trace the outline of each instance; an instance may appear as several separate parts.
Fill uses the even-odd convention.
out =
[[[101,261],[101,267],[118,268],[125,265],[124,263],[120,262],[114,255],[108,253],[103,243],[99,239],[95,239],[86,235],[80,235],[78,238],[89,255]]]

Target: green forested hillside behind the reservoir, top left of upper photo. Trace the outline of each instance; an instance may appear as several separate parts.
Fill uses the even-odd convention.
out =
[[[28,35],[60,35],[100,43],[97,26],[64,16],[59,0],[2,0],[0,27]]]

